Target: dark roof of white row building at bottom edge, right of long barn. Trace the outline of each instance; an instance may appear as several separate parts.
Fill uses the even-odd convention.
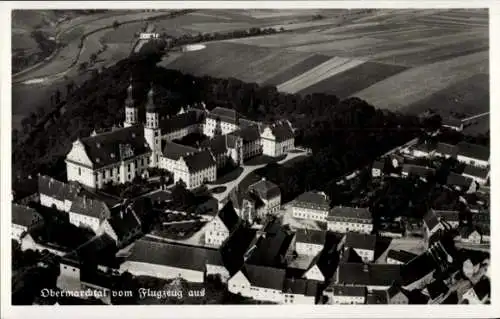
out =
[[[242,272],[252,286],[283,290],[285,269],[246,264]]]

